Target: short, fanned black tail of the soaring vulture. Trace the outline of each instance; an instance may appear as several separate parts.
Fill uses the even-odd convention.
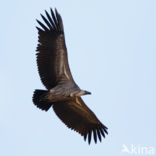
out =
[[[33,103],[40,109],[48,111],[52,106],[52,103],[46,101],[44,98],[47,95],[48,91],[45,90],[35,90],[33,94]]]

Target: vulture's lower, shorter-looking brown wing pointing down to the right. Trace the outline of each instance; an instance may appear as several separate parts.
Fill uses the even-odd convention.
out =
[[[84,139],[88,137],[90,144],[92,134],[95,143],[97,137],[101,141],[102,136],[105,137],[107,127],[104,126],[96,117],[96,115],[85,105],[80,97],[71,101],[56,103],[53,105],[56,115],[71,129],[77,131]]]

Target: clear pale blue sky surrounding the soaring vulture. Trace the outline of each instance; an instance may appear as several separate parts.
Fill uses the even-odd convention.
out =
[[[83,99],[109,128],[89,146],[51,109],[32,103],[43,89],[36,67],[40,13],[56,7],[75,81]],[[123,156],[122,144],[156,150],[155,0],[5,0],[0,5],[0,155]]]

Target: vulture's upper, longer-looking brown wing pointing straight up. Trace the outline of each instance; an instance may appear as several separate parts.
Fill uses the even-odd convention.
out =
[[[51,89],[61,80],[73,80],[67,58],[63,22],[60,14],[50,9],[51,15],[45,11],[41,14],[45,24],[37,20],[38,29],[37,65],[42,83]]]

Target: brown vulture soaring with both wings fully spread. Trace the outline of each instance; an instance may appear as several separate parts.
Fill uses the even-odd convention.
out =
[[[50,13],[41,14],[44,21],[37,20],[38,45],[37,66],[40,79],[46,90],[36,89],[33,103],[41,110],[48,111],[51,107],[58,118],[68,127],[88,140],[93,138],[101,142],[108,134],[96,115],[86,106],[81,96],[91,94],[82,90],[75,83],[68,64],[67,48],[63,21],[55,9]]]

